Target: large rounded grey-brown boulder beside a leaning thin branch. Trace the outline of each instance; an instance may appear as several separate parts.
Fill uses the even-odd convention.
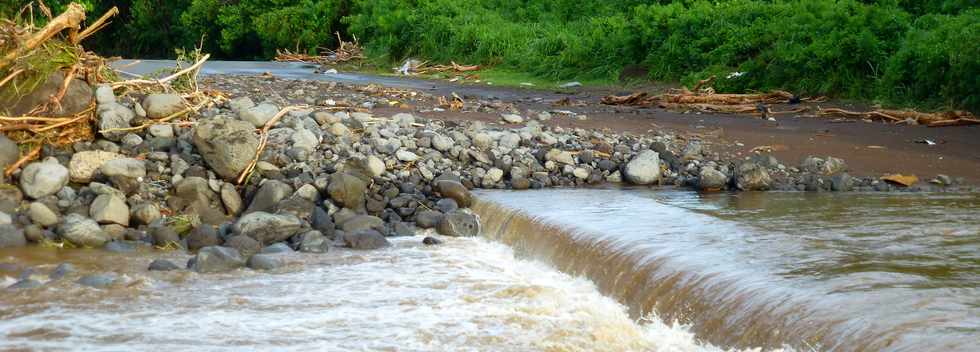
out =
[[[194,129],[194,146],[215,173],[234,181],[255,157],[259,139],[244,121],[209,119]]]

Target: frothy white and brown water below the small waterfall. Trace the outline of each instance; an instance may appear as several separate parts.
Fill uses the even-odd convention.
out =
[[[274,272],[147,272],[175,252],[0,250],[35,289],[0,289],[0,351],[720,351],[680,325],[630,318],[585,279],[482,238],[294,254]],[[79,273],[47,274],[62,262]],[[79,275],[112,272],[108,289]],[[0,284],[16,273],[0,272]]]

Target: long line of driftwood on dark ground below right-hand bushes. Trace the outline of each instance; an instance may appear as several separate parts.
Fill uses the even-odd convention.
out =
[[[751,114],[769,117],[779,114],[798,114],[808,110],[799,107],[791,110],[773,111],[773,104],[819,103],[826,99],[801,98],[785,91],[772,91],[764,94],[718,94],[711,88],[715,77],[701,80],[693,89],[677,89],[651,96],[638,92],[625,96],[610,95],[602,98],[606,105],[657,106],[669,110],[696,110],[709,113]],[[861,120],[883,120],[892,123],[917,123],[929,127],[962,126],[980,124],[980,119],[965,111],[923,113],[910,110],[873,110],[867,112],[848,111],[837,108],[817,107],[816,116],[843,117]]]

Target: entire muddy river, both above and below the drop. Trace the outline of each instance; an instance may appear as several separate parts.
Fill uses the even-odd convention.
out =
[[[177,252],[0,250],[0,350],[970,350],[976,195],[483,192],[486,238],[147,272]],[[109,289],[58,263],[115,272]],[[559,269],[559,270],[555,270]],[[0,270],[0,285],[17,273]]]

